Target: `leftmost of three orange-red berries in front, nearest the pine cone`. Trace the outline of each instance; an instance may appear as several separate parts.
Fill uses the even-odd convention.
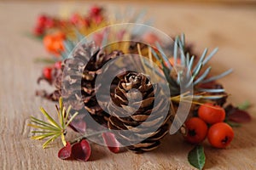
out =
[[[192,117],[185,122],[187,135],[185,139],[191,144],[200,144],[207,137],[207,123],[198,117]]]

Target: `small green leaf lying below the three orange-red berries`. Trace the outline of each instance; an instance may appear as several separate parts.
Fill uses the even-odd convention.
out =
[[[206,156],[202,145],[197,145],[188,156],[189,163],[197,169],[203,169],[206,163]]]

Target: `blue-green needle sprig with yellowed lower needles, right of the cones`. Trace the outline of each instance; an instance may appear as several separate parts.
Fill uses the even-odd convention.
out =
[[[175,42],[173,43],[173,56],[167,56],[164,49],[160,46],[159,42],[156,42],[156,47],[158,51],[154,48],[148,47],[148,59],[143,59],[141,62],[143,64],[143,69],[148,75],[157,75],[160,81],[166,81],[169,83],[169,88],[172,94],[172,101],[177,100],[175,97],[181,97],[182,101],[193,102],[196,105],[202,105],[205,102],[212,99],[222,99],[228,94],[224,94],[224,88],[200,88],[200,84],[207,82],[213,82],[219,78],[225,77],[232,72],[232,69],[224,71],[218,76],[209,77],[212,67],[207,66],[207,63],[214,54],[217,53],[218,48],[215,48],[212,53],[207,55],[208,49],[206,48],[201,54],[198,61],[195,60],[195,56],[191,56],[189,53],[185,53],[185,37],[184,34],[177,36]],[[142,50],[140,46],[137,46],[138,53],[142,55]],[[173,63],[170,59],[173,58]],[[154,67],[152,63],[156,60],[159,68]],[[179,61],[179,62],[178,62]],[[176,72],[177,77],[172,77],[172,72]],[[189,92],[190,88],[193,88],[195,94],[185,95],[184,97],[180,94],[180,87],[185,88],[184,91]],[[181,101],[178,100],[178,101]]]

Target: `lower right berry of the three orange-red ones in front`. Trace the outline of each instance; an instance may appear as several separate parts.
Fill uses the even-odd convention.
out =
[[[216,148],[225,148],[234,139],[234,131],[230,125],[218,122],[210,127],[207,139]]]

